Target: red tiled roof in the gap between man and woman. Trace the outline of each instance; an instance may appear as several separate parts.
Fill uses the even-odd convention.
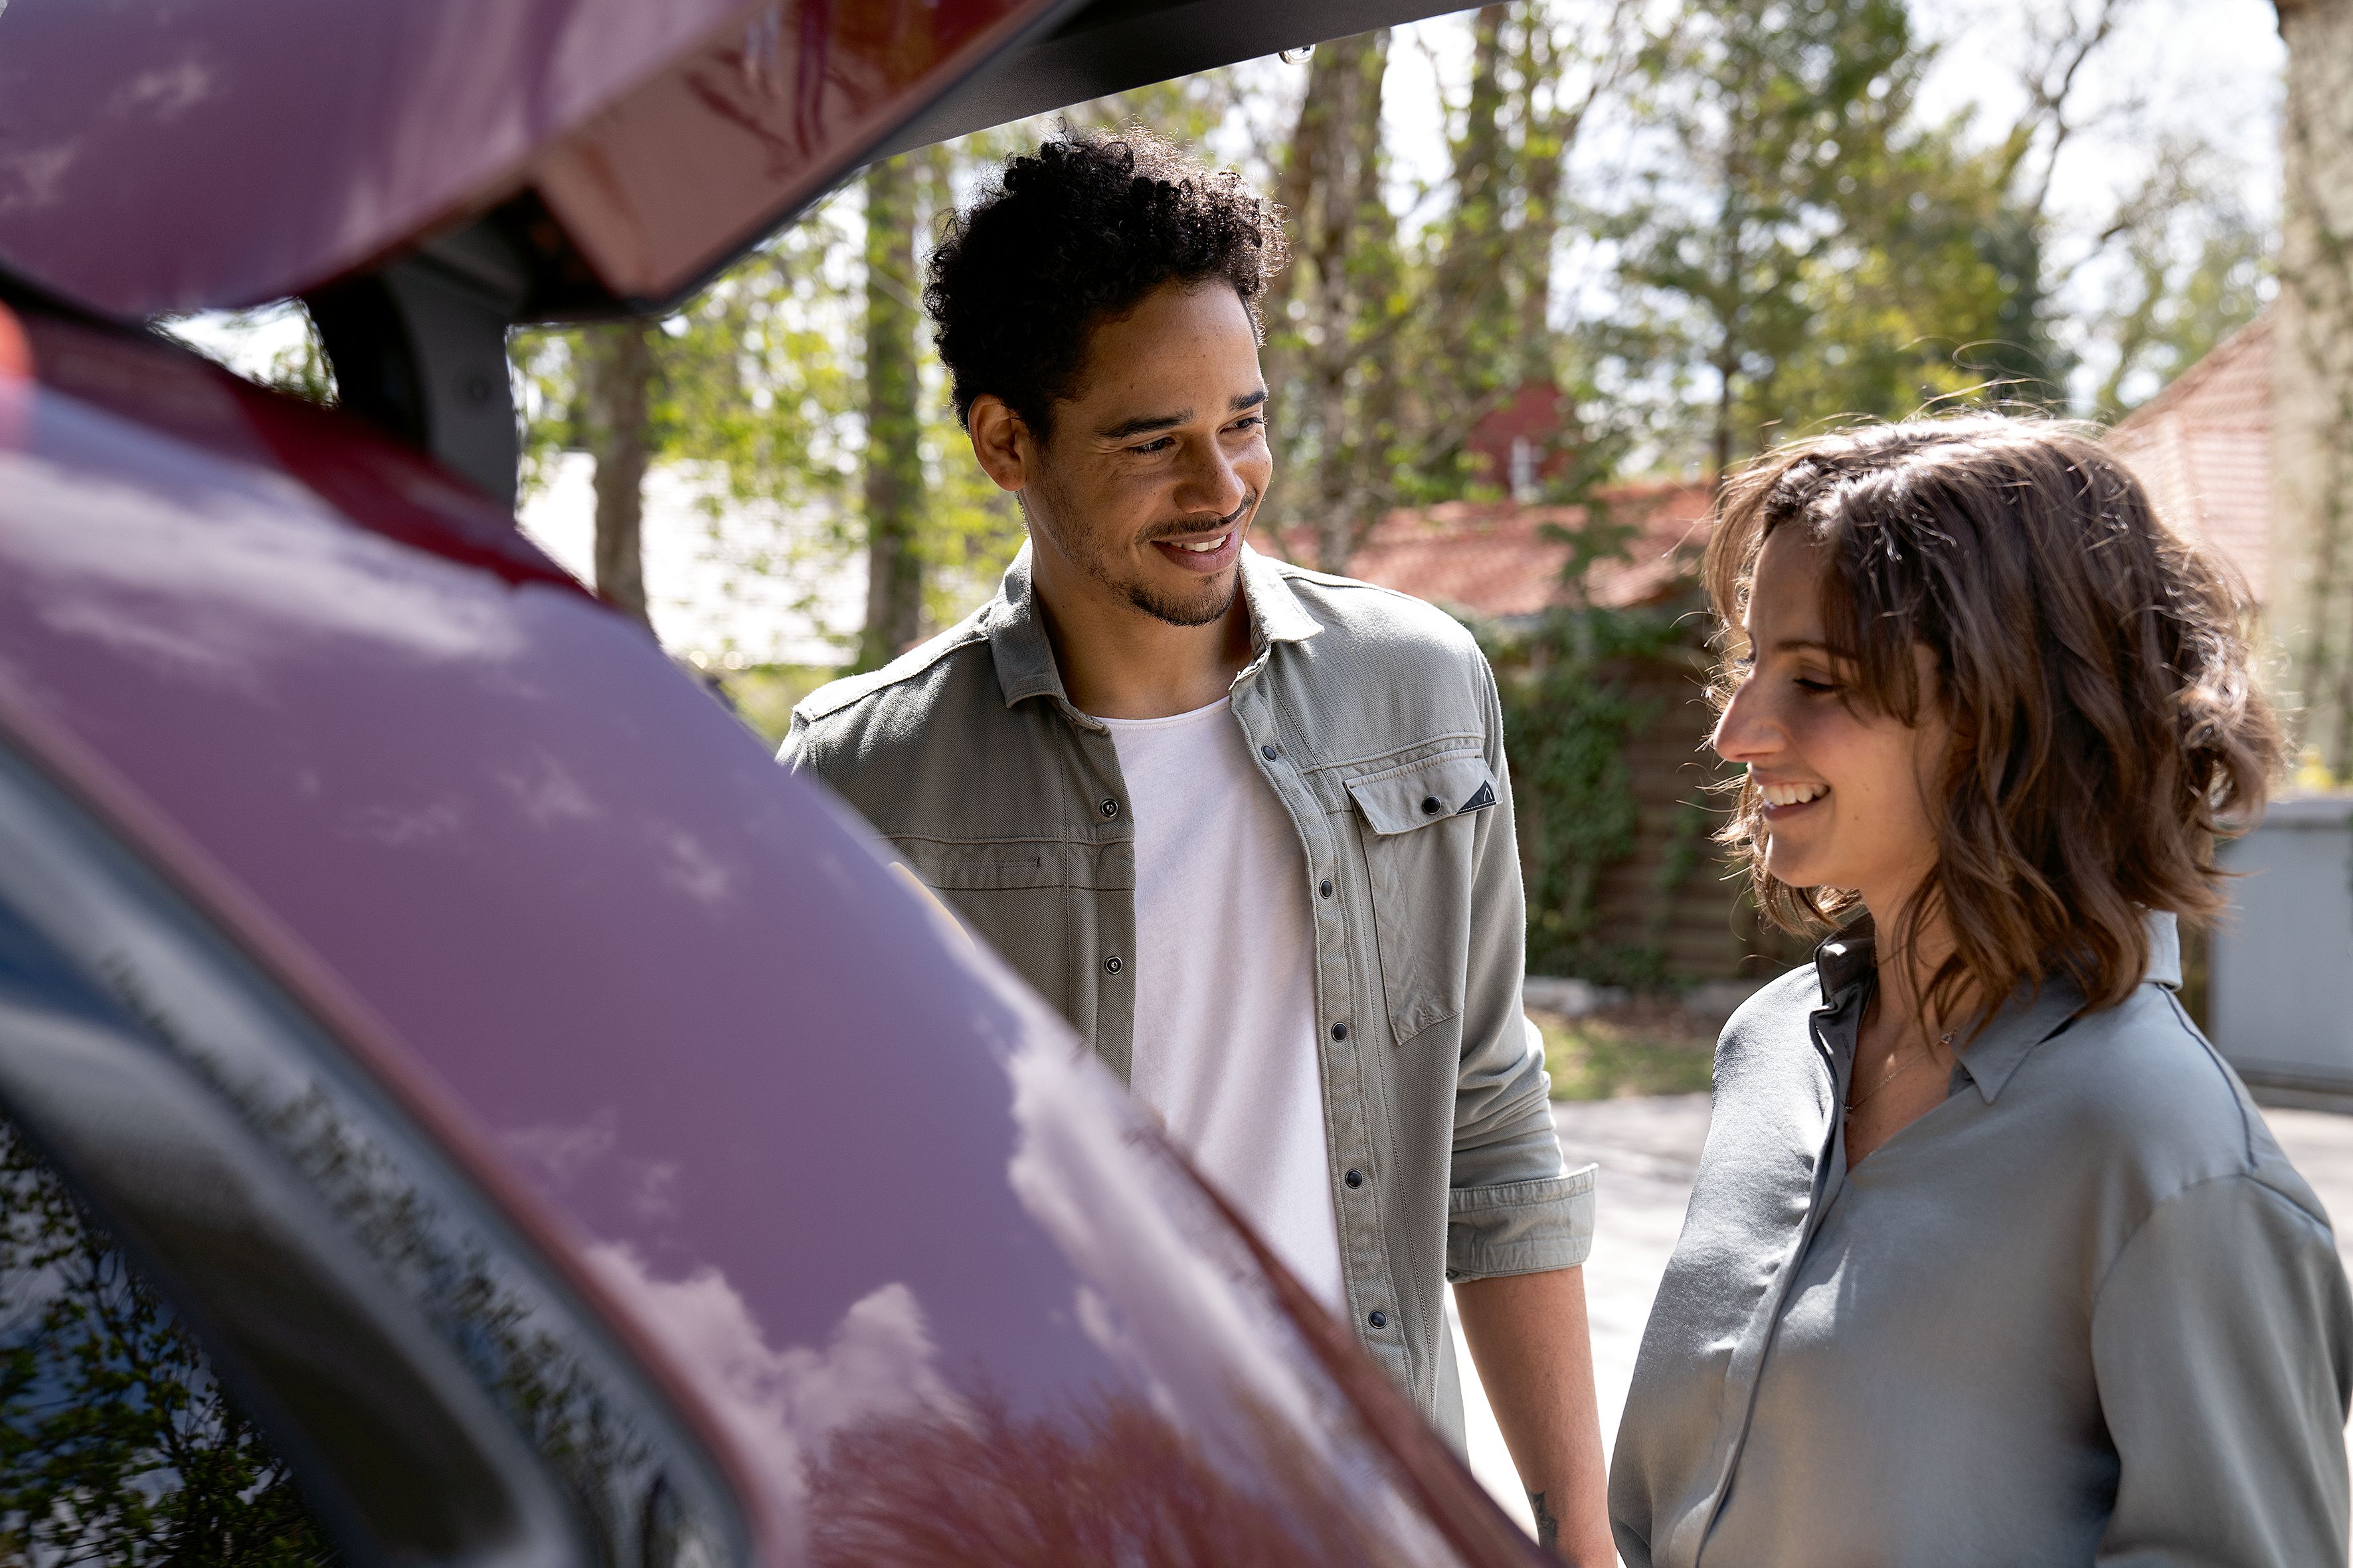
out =
[[[1586,571],[1588,602],[1631,607],[1664,599],[1699,571],[1708,543],[1708,487],[1685,480],[1638,480],[1600,491],[1617,522],[1633,524],[1626,555]],[[1492,621],[1534,616],[1574,602],[1560,578],[1567,541],[1553,529],[1584,527],[1584,505],[1515,501],[1442,501],[1400,508],[1372,527],[1348,559],[1348,576],[1417,599]],[[1306,545],[1297,531],[1294,545]],[[1278,552],[1280,545],[1271,541]],[[1292,559],[1311,559],[1304,550]]]

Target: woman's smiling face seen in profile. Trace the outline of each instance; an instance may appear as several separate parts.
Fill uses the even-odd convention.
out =
[[[1951,724],[1937,661],[1920,663],[1918,724],[1849,701],[1854,661],[1821,625],[1821,550],[1777,529],[1748,595],[1748,665],[1715,724],[1715,752],[1765,797],[1765,867],[1791,886],[1852,889],[1889,919],[1937,865],[1937,790]]]

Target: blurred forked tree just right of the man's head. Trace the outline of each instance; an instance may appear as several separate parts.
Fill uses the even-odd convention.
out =
[[[1381,143],[1391,40],[1318,45],[1275,183],[1292,266],[1271,289],[1266,374],[1268,517],[1325,569],[1346,569],[1391,505],[1480,482],[1471,430],[1520,386],[1567,376],[1551,322],[1562,162],[1631,61],[1635,19],[1631,0],[1574,24],[1532,0],[1471,16],[1447,176],[1412,197],[1440,209],[1412,240]]]

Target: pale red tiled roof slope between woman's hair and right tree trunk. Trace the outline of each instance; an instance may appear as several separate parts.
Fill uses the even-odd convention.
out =
[[[2249,595],[2271,564],[2271,313],[2174,376],[2115,430],[2158,512],[2209,545]]]

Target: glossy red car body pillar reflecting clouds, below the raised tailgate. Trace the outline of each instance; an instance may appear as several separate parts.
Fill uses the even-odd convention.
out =
[[[0,731],[518,1213],[767,1561],[1525,1561],[1061,1025],[640,628],[334,416],[28,324]]]

